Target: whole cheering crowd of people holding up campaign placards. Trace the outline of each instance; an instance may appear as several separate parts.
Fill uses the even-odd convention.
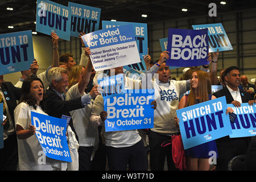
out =
[[[80,34],[80,37],[84,33]],[[81,59],[79,65],[71,53],[59,56],[59,37],[51,34],[53,45],[52,65],[46,71],[36,74],[39,68],[36,60],[27,71],[22,71],[19,81],[13,85],[0,76],[0,103],[3,103],[4,148],[0,149],[0,170],[122,170],[163,171],[167,161],[170,171],[177,168],[172,156],[175,143],[163,146],[164,142],[180,135],[179,118],[176,110],[183,107],[226,97],[227,104],[240,107],[241,103],[253,105],[255,101],[255,78],[250,84],[245,75],[241,76],[236,66],[221,69],[217,76],[218,51],[209,53],[209,65],[183,70],[183,78],[176,81],[171,77],[166,65],[168,51],[160,53],[159,59],[152,61],[150,55],[144,57],[146,79],[125,78],[125,89],[134,85],[155,89],[154,127],[141,130],[105,131],[108,113],[104,111],[102,88],[97,79],[102,76],[124,74],[123,67],[109,72],[95,72],[90,61],[90,49],[81,39]],[[142,81],[146,80],[146,83]],[[223,89],[212,93],[211,85],[222,85]],[[170,93],[172,97],[164,97]],[[67,139],[72,162],[47,158],[36,138],[35,126],[31,124],[31,111],[61,118],[71,117],[67,129]],[[226,114],[233,113],[228,107]],[[147,140],[148,137],[148,140]],[[252,143],[254,142],[254,143]],[[185,150],[183,170],[228,170],[229,161],[238,155],[250,156],[250,146],[255,147],[251,137],[223,137]],[[147,150],[147,148],[149,148]],[[209,163],[209,151],[217,154],[217,164]],[[148,161],[149,154],[149,161]],[[150,164],[150,166],[148,166]],[[247,169],[256,169],[251,165]]]

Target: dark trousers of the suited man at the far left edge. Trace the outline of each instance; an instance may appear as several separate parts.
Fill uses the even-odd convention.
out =
[[[18,143],[16,134],[8,136],[0,149],[0,171],[16,171],[18,166]]]

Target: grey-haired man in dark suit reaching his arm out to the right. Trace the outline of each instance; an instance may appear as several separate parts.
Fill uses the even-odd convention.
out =
[[[88,64],[88,67],[86,67],[82,75],[82,79],[84,79],[83,84],[85,86],[88,84],[90,73],[92,72],[92,68],[89,67],[92,67],[92,64]],[[61,118],[62,115],[70,116],[69,111],[81,109],[86,104],[90,104],[90,99],[100,94],[97,89],[92,89],[90,93],[84,96],[65,101],[64,93],[67,91],[66,88],[69,85],[68,71],[65,68],[55,67],[49,69],[47,80],[49,89],[46,90],[47,99],[44,108],[46,109],[46,113],[52,117]],[[71,126],[71,129],[76,134],[72,119],[69,122],[69,126]],[[77,135],[76,138],[78,140]]]

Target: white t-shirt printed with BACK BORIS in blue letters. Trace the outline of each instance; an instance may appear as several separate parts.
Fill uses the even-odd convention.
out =
[[[154,112],[154,128],[152,131],[162,134],[177,133],[179,128],[174,124],[174,117],[179,106],[179,97],[189,90],[188,81],[170,80],[166,84],[155,79],[156,109]]]

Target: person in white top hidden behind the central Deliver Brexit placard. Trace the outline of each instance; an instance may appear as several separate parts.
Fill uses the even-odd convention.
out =
[[[150,71],[146,71],[146,82],[147,75],[154,74],[159,65],[163,63],[165,59],[168,59],[167,52],[162,52],[157,64],[150,68]],[[150,64],[148,62],[148,64]],[[123,68],[117,67],[110,70],[110,75],[112,71],[114,74],[123,74]],[[152,77],[151,77],[152,78]],[[142,78],[142,80],[144,80]],[[143,87],[141,80],[133,80],[129,77],[125,77],[125,89],[134,89],[139,85]],[[151,80],[149,80],[151,82]],[[145,85],[144,85],[145,86]],[[147,88],[147,86],[146,86]],[[152,104],[152,103],[151,103]],[[154,105],[154,108],[156,105]],[[125,131],[105,131],[105,119],[108,113],[104,111],[104,100],[102,95],[97,96],[93,103],[92,116],[90,120],[94,125],[102,125],[102,134],[105,139],[106,155],[108,157],[108,164],[110,170],[123,170],[127,169],[129,165],[130,170],[134,171],[146,171],[147,170],[147,154],[144,148],[144,143],[138,130],[125,130]]]

